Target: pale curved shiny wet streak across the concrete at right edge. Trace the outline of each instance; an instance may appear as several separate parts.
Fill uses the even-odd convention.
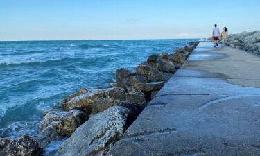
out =
[[[229,101],[229,100],[234,100],[234,99],[237,99],[237,98],[245,98],[245,97],[250,97],[250,96],[256,96],[256,97],[259,96],[260,97],[259,94],[241,94],[241,95],[235,95],[235,96],[225,96],[224,98],[218,98],[218,99],[215,99],[215,100],[211,100],[207,103],[204,103],[204,104],[200,105],[200,107],[198,109],[203,110],[210,105],[214,105],[214,104],[220,103],[222,101]]]

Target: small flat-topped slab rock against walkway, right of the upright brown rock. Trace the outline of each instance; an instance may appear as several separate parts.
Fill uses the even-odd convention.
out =
[[[151,82],[151,83],[139,83],[137,84],[137,89],[143,92],[151,92],[155,90],[162,89],[164,87],[164,82]]]

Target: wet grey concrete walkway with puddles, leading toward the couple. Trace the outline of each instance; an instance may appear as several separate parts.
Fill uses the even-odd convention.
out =
[[[260,155],[260,58],[200,42],[111,155]]]

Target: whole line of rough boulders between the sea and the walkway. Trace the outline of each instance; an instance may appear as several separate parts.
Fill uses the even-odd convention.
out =
[[[116,70],[116,84],[108,89],[81,89],[62,100],[63,109],[44,112],[39,134],[18,141],[0,140],[2,155],[42,155],[51,141],[69,137],[56,156],[105,155],[171,76],[182,67],[199,42],[174,53],[150,55],[136,72]]]

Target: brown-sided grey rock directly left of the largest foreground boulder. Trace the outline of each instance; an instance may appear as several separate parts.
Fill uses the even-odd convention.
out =
[[[51,127],[60,135],[71,136],[86,120],[86,114],[80,110],[51,111],[44,116],[39,131],[42,132],[45,128]]]

